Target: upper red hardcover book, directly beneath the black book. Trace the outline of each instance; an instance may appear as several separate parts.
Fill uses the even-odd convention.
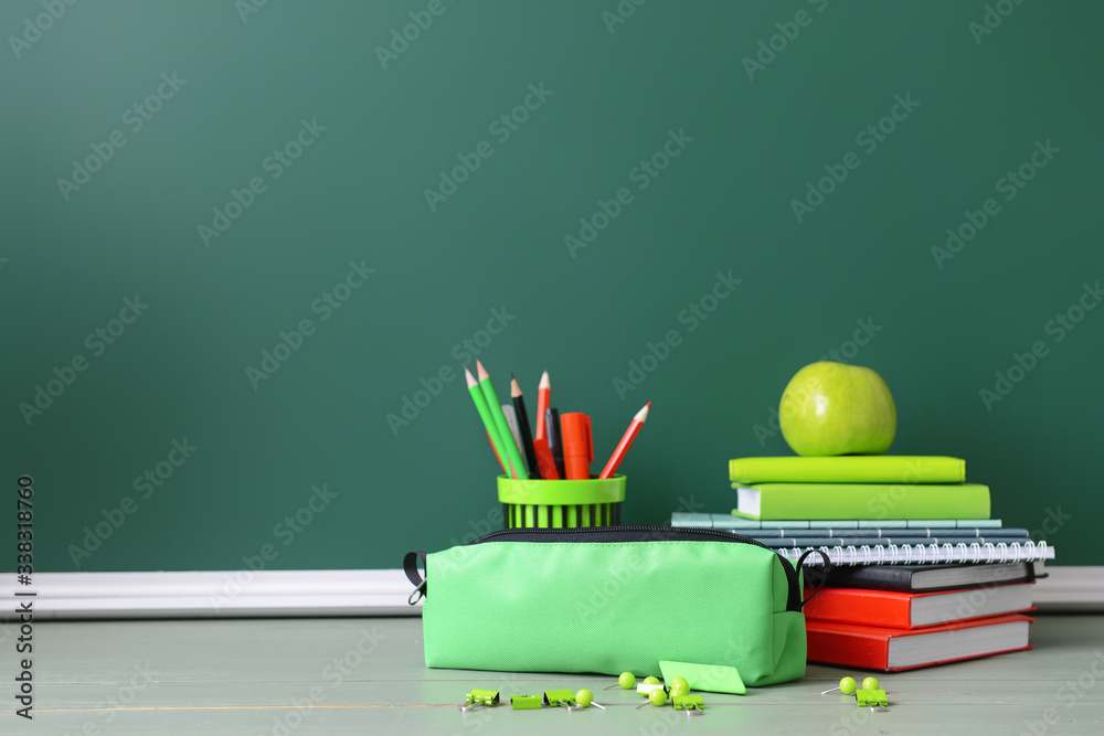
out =
[[[824,588],[805,605],[805,618],[838,623],[914,629],[1031,610],[1033,583],[903,593]]]

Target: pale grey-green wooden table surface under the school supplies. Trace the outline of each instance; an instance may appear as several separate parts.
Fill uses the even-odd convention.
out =
[[[1032,651],[880,674],[884,713],[820,695],[871,673],[810,664],[803,681],[704,693],[699,718],[636,710],[635,693],[601,692],[606,675],[427,670],[412,617],[36,622],[26,721],[18,636],[0,625],[0,734],[1104,734],[1104,616],[1039,616]],[[471,687],[507,702],[588,687],[608,710],[460,713]]]

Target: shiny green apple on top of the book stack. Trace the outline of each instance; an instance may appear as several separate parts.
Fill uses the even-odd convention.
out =
[[[896,407],[870,369],[821,361],[790,378],[778,423],[798,455],[881,455],[896,435]]]

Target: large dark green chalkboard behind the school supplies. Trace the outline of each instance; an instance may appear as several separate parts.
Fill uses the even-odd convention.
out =
[[[837,351],[893,391],[892,452],[966,458],[995,516],[1104,564],[1102,24],[4,2],[0,568],[24,473],[39,570],[397,567],[497,526],[465,341],[503,396],[548,367],[602,457],[654,402],[627,522],[731,509],[728,460],[787,454],[782,390]]]

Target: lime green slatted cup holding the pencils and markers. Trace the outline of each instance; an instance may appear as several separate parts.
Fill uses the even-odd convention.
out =
[[[498,477],[506,529],[577,529],[620,524],[625,476],[590,480]]]

